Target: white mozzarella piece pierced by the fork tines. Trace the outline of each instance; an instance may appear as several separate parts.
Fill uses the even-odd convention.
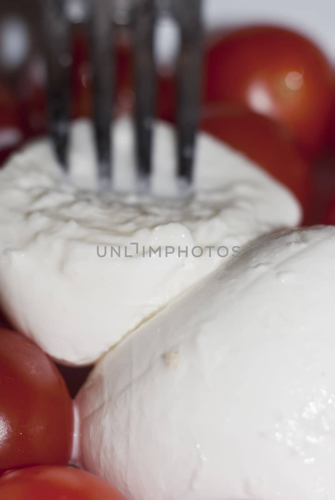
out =
[[[135,188],[127,118],[114,128],[117,190],[96,189],[88,121],[73,125],[70,178],[47,140],[26,147],[0,171],[0,302],[20,331],[60,361],[95,361],[228,262],[233,246],[300,219],[300,207],[286,188],[205,134],[199,134],[194,195],[177,198],[174,130],[158,123],[155,137],[155,195],[122,193]],[[138,254],[131,243],[138,244]],[[229,254],[220,257],[206,245],[224,245]],[[105,257],[98,256],[97,246],[99,255],[106,246]],[[161,256],[149,257],[149,246],[161,247]],[[166,257],[167,246],[175,252]],[[186,246],[188,256],[182,253]],[[194,246],[201,247],[196,255],[204,249],[202,257],[192,255]]]

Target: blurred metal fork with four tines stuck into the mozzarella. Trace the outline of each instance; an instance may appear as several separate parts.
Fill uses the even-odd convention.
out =
[[[48,73],[49,130],[56,156],[68,169],[71,75],[69,0],[42,0]],[[114,49],[117,22],[115,0],[88,0],[88,30],[93,71],[93,126],[99,179],[112,180]],[[123,0],[124,1],[124,0]],[[124,4],[125,5],[125,4]],[[159,15],[155,0],[131,0],[128,24],[134,42],[135,146],[137,172],[149,179],[155,114],[156,68],[154,29]],[[165,6],[166,8],[166,6]],[[199,116],[201,69],[201,0],[170,0],[167,8],[181,33],[177,61],[177,175],[189,185],[193,176],[195,138]]]

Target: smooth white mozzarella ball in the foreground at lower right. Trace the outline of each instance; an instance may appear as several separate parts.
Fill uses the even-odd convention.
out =
[[[110,351],[81,461],[130,500],[335,498],[335,227],[261,237]]]

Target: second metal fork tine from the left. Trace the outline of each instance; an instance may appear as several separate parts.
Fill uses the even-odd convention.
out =
[[[93,69],[93,121],[100,181],[110,181],[111,119],[114,84],[111,0],[91,0],[89,31]]]

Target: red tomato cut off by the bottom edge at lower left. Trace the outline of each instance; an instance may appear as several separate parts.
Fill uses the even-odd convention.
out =
[[[74,467],[40,466],[6,472],[0,478],[4,500],[125,500],[100,477]]]

